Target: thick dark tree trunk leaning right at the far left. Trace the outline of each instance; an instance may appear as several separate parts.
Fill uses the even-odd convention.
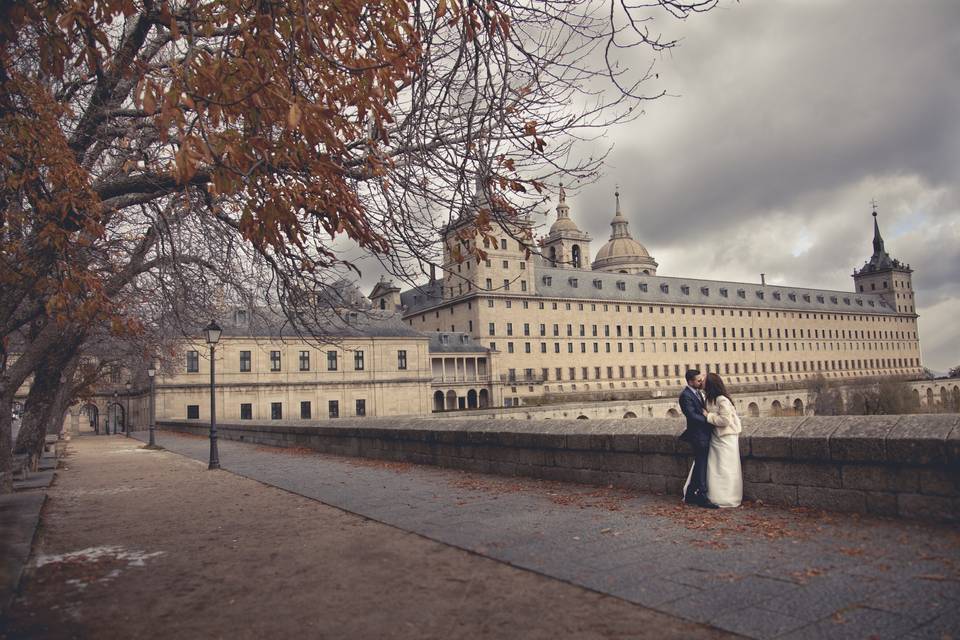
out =
[[[71,385],[61,383],[61,375],[72,377],[76,368],[76,358],[69,352],[60,351],[56,356],[44,360],[37,367],[27,395],[23,420],[14,453],[26,453],[30,456],[30,468],[36,471],[43,454],[47,431],[55,421],[63,420],[63,414],[70,405]]]

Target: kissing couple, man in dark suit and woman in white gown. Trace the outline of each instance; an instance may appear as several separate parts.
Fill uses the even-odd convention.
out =
[[[706,509],[739,507],[743,500],[740,417],[720,376],[687,371],[680,410],[687,418],[680,439],[693,448],[694,456],[683,501]]]

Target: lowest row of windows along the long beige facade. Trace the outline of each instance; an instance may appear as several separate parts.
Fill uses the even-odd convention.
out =
[[[916,358],[870,358],[867,360],[818,360],[815,362],[770,362],[769,370],[767,367],[768,363],[766,362],[728,362],[724,364],[714,363],[714,364],[703,364],[697,365],[699,368],[705,372],[718,372],[723,373],[724,375],[740,375],[748,373],[815,373],[820,371],[846,371],[846,370],[858,370],[858,369],[867,369],[867,370],[876,370],[876,369],[896,369],[896,368],[906,368],[906,367],[918,367],[920,366],[920,361]],[[652,372],[653,378],[679,378],[683,373],[692,368],[691,365],[631,365],[630,369],[630,378],[637,378],[637,373],[640,373],[640,378],[651,377],[649,374]],[[577,377],[579,369],[579,378]],[[566,378],[564,378],[564,368],[556,367],[553,370],[553,380],[601,380],[603,379],[602,374],[606,372],[607,379],[614,379],[614,373],[617,374],[617,378],[626,378],[627,377],[627,367],[626,366],[617,366],[617,367],[592,367],[593,376],[591,377],[591,367],[568,367],[566,369]],[[662,376],[660,375],[662,372]],[[533,382],[533,381],[546,381],[550,380],[550,369],[543,368],[540,370],[539,376],[534,372],[534,369],[524,369],[523,377],[517,377],[516,369],[509,369],[507,371],[507,379],[510,382],[515,382],[522,380],[524,382]]]

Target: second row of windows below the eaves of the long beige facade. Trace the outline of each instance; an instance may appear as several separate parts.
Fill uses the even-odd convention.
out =
[[[599,337],[599,335],[598,335],[599,325],[595,325],[595,324],[594,324],[594,325],[590,325],[590,328],[591,328],[591,331],[590,331],[591,336],[594,337],[594,338]],[[605,338],[611,337],[611,335],[610,335],[610,333],[611,333],[611,332],[610,332],[610,328],[611,328],[611,326],[608,325],[608,324],[603,325],[603,336],[604,336]],[[719,328],[719,329],[720,329],[720,335],[719,335],[719,336],[717,335],[717,327],[711,327],[710,329],[712,329],[712,332],[708,332],[708,328],[707,328],[707,327],[702,327],[702,330],[703,330],[703,331],[702,331],[702,333],[701,333],[700,335],[698,335],[698,331],[699,331],[699,329],[701,329],[701,327],[689,327],[689,328],[692,330],[692,335],[688,335],[688,331],[687,331],[688,327],[676,327],[676,326],[672,326],[672,327],[670,327],[670,337],[673,337],[673,338],[679,338],[679,337],[683,337],[683,338],[687,338],[687,337],[693,337],[693,338],[698,338],[698,337],[704,337],[704,338],[706,338],[706,337],[713,337],[713,338],[717,338],[717,337],[721,337],[721,338],[726,338],[726,337],[727,337],[727,327],[720,327],[720,328]],[[539,329],[540,329],[540,331],[539,331],[540,336],[541,336],[541,337],[546,337],[546,335],[547,335],[547,325],[541,323]],[[623,326],[622,326],[622,325],[619,325],[619,324],[618,324],[618,325],[614,325],[613,329],[614,329],[614,331],[615,331],[615,334],[616,334],[616,337],[617,337],[617,338],[622,338],[622,337],[624,337],[624,331],[623,331]],[[633,337],[634,337],[633,325],[627,325],[627,326],[626,326],[626,329],[627,329],[627,331],[626,331],[626,337],[628,337],[628,338],[633,338]],[[638,337],[638,338],[644,338],[644,337],[646,337],[646,331],[645,331],[645,329],[646,329],[646,327],[645,327],[644,325],[638,325],[638,326],[637,326],[637,331],[636,331],[636,337]],[[679,333],[678,333],[678,331],[677,331],[678,329],[680,330]],[[741,337],[741,338],[746,338],[746,337],[748,337],[748,335],[749,335],[750,338],[753,338],[753,337],[754,337],[754,329],[753,329],[753,327],[739,327],[739,329],[740,329],[740,337]],[[507,335],[508,335],[508,336],[512,336],[512,335],[513,335],[513,323],[512,323],[512,322],[508,322],[508,323],[507,323],[506,330],[507,330]],[[910,331],[876,331],[876,330],[874,330],[874,331],[864,331],[864,330],[861,330],[861,329],[858,329],[858,330],[850,329],[850,330],[848,331],[847,329],[823,329],[823,330],[820,330],[820,329],[803,329],[803,328],[801,328],[801,329],[799,329],[799,331],[800,331],[799,336],[797,335],[797,331],[798,331],[797,329],[783,329],[783,330],[782,330],[782,335],[781,335],[781,329],[778,328],[778,329],[776,329],[776,337],[777,337],[777,339],[790,339],[790,338],[792,337],[792,338],[801,339],[801,340],[804,339],[804,338],[806,338],[806,339],[808,339],[808,340],[809,340],[809,339],[817,339],[817,340],[819,340],[820,338],[829,339],[829,340],[835,340],[835,339],[844,339],[844,340],[846,340],[846,339],[851,339],[851,340],[854,340],[854,339],[855,339],[855,340],[891,340],[891,339],[892,339],[892,340],[910,340],[910,339],[913,339],[913,340],[915,340],[916,337],[917,337],[916,332],[910,332]],[[488,323],[487,332],[488,332],[488,334],[491,335],[491,336],[497,335],[497,324],[496,324],[495,322],[490,322],[490,323]],[[773,338],[773,337],[774,337],[774,333],[773,333],[773,332],[774,332],[774,329],[772,329],[772,328],[767,328],[767,336],[766,336],[766,337],[767,337],[767,338]],[[806,332],[806,335],[804,335],[804,332]],[[524,322],[524,323],[523,323],[523,335],[529,336],[530,334],[531,334],[530,323],[529,323],[529,322]],[[574,325],[572,325],[572,324],[566,325],[566,335],[567,335],[567,337],[568,337],[568,338],[573,337],[573,334],[574,334]],[[821,334],[822,334],[822,335],[821,335]],[[583,325],[583,324],[578,325],[578,335],[579,335],[581,338],[586,337],[586,335],[587,335],[587,325]],[[656,326],[650,325],[650,333],[649,333],[649,336],[650,336],[651,338],[653,338],[653,337],[656,337],[656,335],[657,335],[657,328],[656,328]],[[554,337],[560,337],[560,325],[559,325],[559,324],[554,324],[554,325],[553,325],[553,336],[554,336]],[[666,338],[666,337],[667,337],[667,327],[666,327],[666,326],[661,326],[661,327],[660,327],[660,337],[661,337],[661,338]],[[730,336],[729,336],[729,337],[731,337],[731,338],[736,338],[736,337],[737,337],[737,327],[730,327]],[[764,336],[763,336],[763,329],[757,329],[757,330],[756,330],[756,337],[758,337],[758,338],[763,338],[763,337],[764,337]]]

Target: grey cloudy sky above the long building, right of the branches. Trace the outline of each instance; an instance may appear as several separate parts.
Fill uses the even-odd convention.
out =
[[[852,291],[876,199],[924,364],[960,364],[960,2],[742,0],[657,26],[683,38],[657,69],[676,97],[611,132],[568,199],[592,250],[619,183],[663,275]]]

